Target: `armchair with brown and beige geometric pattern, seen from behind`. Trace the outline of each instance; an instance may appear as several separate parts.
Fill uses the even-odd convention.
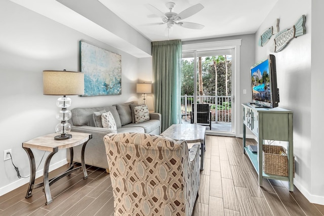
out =
[[[199,189],[199,144],[149,134],[104,137],[115,215],[191,215]]]

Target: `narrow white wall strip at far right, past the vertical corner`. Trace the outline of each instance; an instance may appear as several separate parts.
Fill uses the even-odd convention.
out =
[[[311,104],[311,150],[310,150],[310,169],[311,169],[311,191],[312,196],[320,196],[321,204],[324,204],[324,175],[323,175],[323,122],[321,114],[324,107],[324,73],[323,73],[323,35],[324,28],[324,1],[311,1],[311,85],[310,85],[310,104]]]

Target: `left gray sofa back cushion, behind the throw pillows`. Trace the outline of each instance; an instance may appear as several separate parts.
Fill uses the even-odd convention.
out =
[[[93,112],[106,110],[106,112],[110,111],[113,118],[115,119],[117,128],[121,127],[120,118],[117,112],[117,108],[115,106],[108,107],[96,107],[96,108],[74,108],[71,110],[72,112],[72,122],[73,125],[76,126],[95,126],[93,120]]]

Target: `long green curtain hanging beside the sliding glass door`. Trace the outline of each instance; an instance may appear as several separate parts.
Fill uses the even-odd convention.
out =
[[[152,42],[155,112],[161,114],[161,132],[180,123],[181,40]]]

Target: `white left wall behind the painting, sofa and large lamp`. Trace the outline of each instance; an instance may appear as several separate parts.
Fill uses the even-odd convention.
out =
[[[59,111],[55,105],[58,97],[43,95],[42,71],[79,71],[79,40],[121,55],[122,92],[118,96],[71,96],[71,109],[106,106],[140,98],[136,94],[138,69],[147,68],[147,62],[141,62],[143,65],[139,67],[138,58],[7,0],[0,2],[0,20],[0,155],[4,150],[12,149],[14,163],[22,176],[30,174],[22,143],[54,133],[58,123],[55,118]],[[37,166],[43,152],[34,151],[34,154]],[[52,168],[65,162],[65,151],[58,152],[52,158]],[[43,170],[43,166],[44,161],[38,170]],[[11,161],[3,161],[2,157],[0,172],[0,195],[29,182],[29,178],[19,180]]]

